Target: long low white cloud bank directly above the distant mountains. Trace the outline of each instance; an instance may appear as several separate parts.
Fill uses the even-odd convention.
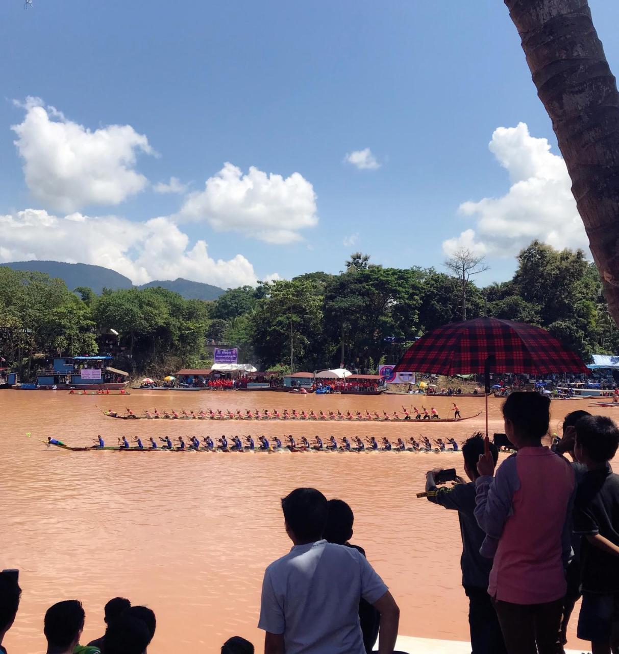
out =
[[[59,217],[42,209],[0,215],[0,262],[30,259],[104,266],[135,284],[185,277],[228,288],[257,281],[242,254],[215,260],[204,241],[191,245],[187,234],[167,217],[131,222],[79,213]]]

